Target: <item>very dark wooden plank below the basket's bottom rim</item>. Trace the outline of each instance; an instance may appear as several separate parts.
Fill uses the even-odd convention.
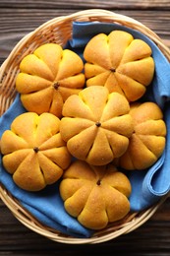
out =
[[[107,255],[102,254],[106,248],[107,253],[124,253],[126,250],[126,255],[136,256],[166,255],[170,252],[170,199],[147,223],[133,232],[96,245],[65,245],[46,239],[19,223],[2,202],[0,213],[0,255],[5,255],[9,250],[24,253],[26,248],[28,254],[24,255],[33,255],[33,252],[34,255],[49,255],[54,250],[60,250],[68,255],[87,255],[99,250],[101,255]]]

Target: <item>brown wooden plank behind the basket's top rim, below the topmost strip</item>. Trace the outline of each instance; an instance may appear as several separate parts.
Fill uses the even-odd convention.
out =
[[[170,12],[122,10],[117,13],[130,16],[156,32],[170,46]],[[13,9],[0,8],[0,56],[6,58],[17,42],[28,32],[55,17],[70,15],[76,9]],[[158,17],[158,19],[157,19]]]

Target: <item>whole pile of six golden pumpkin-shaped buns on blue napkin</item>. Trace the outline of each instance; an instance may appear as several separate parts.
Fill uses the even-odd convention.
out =
[[[66,211],[92,229],[124,218],[132,190],[125,173],[151,166],[166,143],[161,109],[140,102],[154,75],[151,53],[113,31],[87,42],[85,63],[56,43],[24,57],[16,89],[28,112],[1,139],[14,182],[39,191],[60,180]]]

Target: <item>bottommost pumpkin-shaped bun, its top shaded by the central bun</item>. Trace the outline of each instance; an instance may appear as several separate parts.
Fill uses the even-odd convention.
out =
[[[130,181],[113,165],[73,162],[64,172],[60,194],[66,211],[92,229],[121,220],[130,211]]]

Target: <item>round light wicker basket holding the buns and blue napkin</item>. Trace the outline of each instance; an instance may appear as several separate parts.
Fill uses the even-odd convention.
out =
[[[170,61],[170,51],[161,39],[140,22],[110,11],[86,10],[69,16],[58,17],[43,24],[35,31],[28,33],[12,50],[9,57],[0,69],[0,115],[2,115],[13,102],[16,96],[15,78],[19,73],[19,64],[28,53],[32,52],[42,43],[55,41],[64,45],[72,38],[72,23],[79,22],[104,22],[116,23],[135,29],[152,39],[163,54]],[[100,231],[96,231],[90,238],[75,238],[53,230],[35,220],[7,190],[0,184],[0,197],[14,216],[31,230],[47,238],[71,244],[100,243],[113,239],[121,234],[128,233],[145,223],[168,197],[163,197],[158,204],[141,213],[130,214],[123,221],[110,224]]]

